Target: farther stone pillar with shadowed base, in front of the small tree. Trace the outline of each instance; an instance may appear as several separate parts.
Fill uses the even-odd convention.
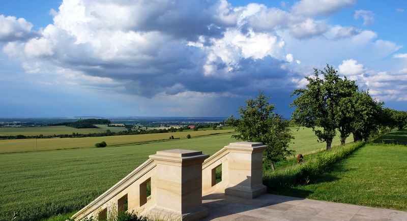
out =
[[[262,143],[236,142],[225,146],[228,155],[228,184],[226,195],[252,199],[263,195],[267,187],[263,185]]]

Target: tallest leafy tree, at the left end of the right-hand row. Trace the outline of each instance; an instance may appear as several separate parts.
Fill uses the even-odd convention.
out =
[[[324,78],[319,78],[319,72]],[[306,88],[294,90],[296,95],[290,107],[296,107],[292,120],[299,125],[312,128],[319,140],[327,143],[331,148],[332,140],[336,136],[336,129],[341,134],[341,143],[352,133],[352,120],[355,103],[354,94],[358,87],[355,81],[339,78],[337,71],[327,65],[324,71],[314,69]]]

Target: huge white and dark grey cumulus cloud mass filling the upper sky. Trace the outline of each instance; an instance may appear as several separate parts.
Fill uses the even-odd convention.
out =
[[[377,40],[373,31],[316,18],[353,5],[354,0],[303,0],[279,9],[234,8],[225,0],[71,0],[53,11],[54,22],[39,33],[24,19],[0,17],[11,25],[0,26],[6,30],[0,41],[27,73],[144,98],[237,98],[259,88],[292,90],[306,83],[311,65],[331,61],[342,61],[340,73],[381,88],[374,78],[379,74],[366,74],[358,61],[389,56],[399,46]],[[356,15],[367,23],[372,16]]]

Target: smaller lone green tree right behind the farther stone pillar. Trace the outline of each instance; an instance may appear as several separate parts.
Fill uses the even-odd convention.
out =
[[[288,127],[288,121],[281,115],[274,113],[274,105],[270,105],[264,92],[259,91],[256,99],[246,100],[246,106],[239,107],[241,119],[235,129],[237,135],[232,138],[237,140],[260,142],[268,147],[263,153],[265,161],[269,162],[274,170],[274,163],[284,160],[287,155],[293,154],[288,150],[288,143],[294,139]],[[230,118],[230,117],[229,117]]]

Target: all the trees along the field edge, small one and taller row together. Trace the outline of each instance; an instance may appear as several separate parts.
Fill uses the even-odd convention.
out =
[[[306,88],[291,94],[297,96],[290,105],[296,108],[291,120],[312,128],[319,141],[327,143],[327,149],[337,131],[344,144],[351,134],[354,141],[367,141],[383,129],[402,129],[407,124],[407,112],[383,108],[384,103],[372,99],[368,91],[359,90],[355,81],[340,78],[332,66],[327,65],[324,71],[314,69],[314,75],[306,79]],[[233,138],[266,144],[264,161],[274,169],[275,162],[294,153],[288,149],[294,137],[290,122],[274,112],[275,106],[268,103],[269,99],[259,91],[256,99],[248,99],[245,107],[239,107],[240,119],[232,115],[226,124],[236,127],[238,134]]]

